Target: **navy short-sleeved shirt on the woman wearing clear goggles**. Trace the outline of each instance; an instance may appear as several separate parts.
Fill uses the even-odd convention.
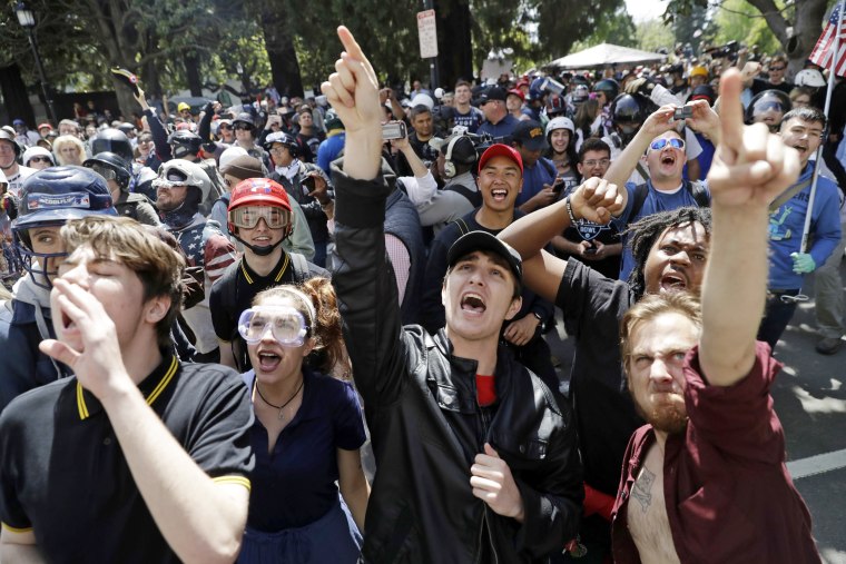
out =
[[[245,380],[252,388],[254,374]],[[358,397],[351,383],[303,367],[303,403],[273,452],[267,452],[267,429],[258,418],[250,438],[256,468],[247,524],[268,533],[308,525],[337,503],[337,449],[364,444]]]

